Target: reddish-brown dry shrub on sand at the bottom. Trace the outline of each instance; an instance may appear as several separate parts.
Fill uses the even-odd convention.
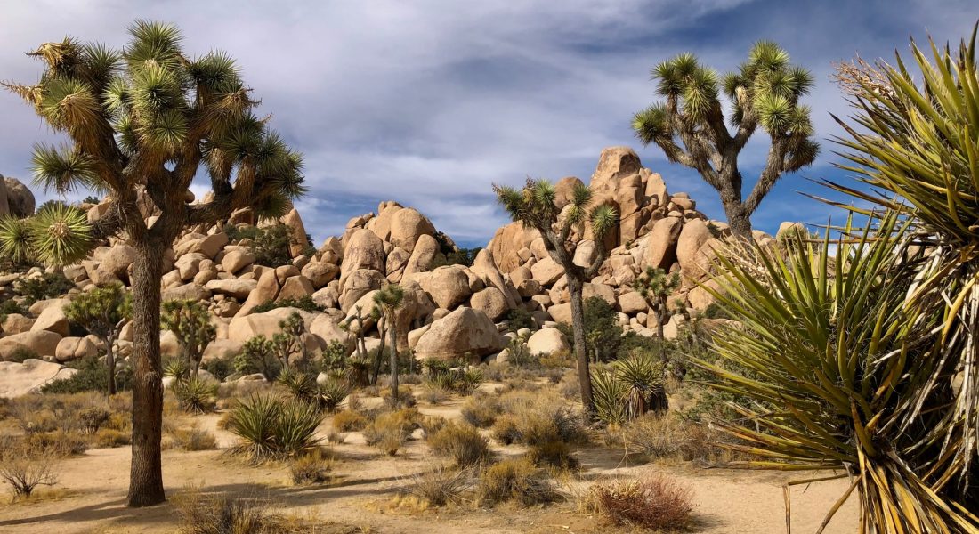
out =
[[[651,530],[688,527],[692,500],[689,488],[664,475],[598,483],[589,495],[591,508],[612,523]]]

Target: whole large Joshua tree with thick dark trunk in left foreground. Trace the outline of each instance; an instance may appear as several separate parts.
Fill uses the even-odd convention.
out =
[[[109,211],[89,224],[72,210],[52,212],[20,240],[49,264],[81,259],[99,240],[122,235],[136,250],[132,272],[135,373],[132,464],[127,504],[163,502],[160,278],[164,251],[187,226],[212,224],[252,207],[283,215],[303,193],[302,157],[255,115],[256,100],[223,52],[191,57],[170,24],[137,21],[121,50],[72,38],[28,55],[45,64],[34,85],[7,83],[69,143],[38,145],[35,183],[64,193],[109,193]],[[213,195],[187,204],[204,166]],[[145,194],[145,198],[143,195]],[[147,223],[140,202],[158,217]]]

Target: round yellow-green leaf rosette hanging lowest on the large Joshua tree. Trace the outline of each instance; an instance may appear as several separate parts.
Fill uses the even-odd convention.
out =
[[[49,266],[67,266],[92,249],[92,225],[81,210],[52,203],[27,222],[27,237],[35,258]]]

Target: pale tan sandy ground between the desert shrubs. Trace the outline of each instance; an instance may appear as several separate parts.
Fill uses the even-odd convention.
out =
[[[458,402],[443,407],[421,407],[423,413],[453,416]],[[195,422],[210,429],[220,447],[234,444],[234,436],[216,427],[218,415],[201,415]],[[325,421],[321,429],[328,427]],[[325,434],[324,434],[325,435]],[[408,442],[392,459],[362,444],[359,434],[347,443],[331,445],[337,456],[333,479],[318,486],[297,487],[281,464],[252,466],[224,451],[163,454],[163,480],[168,497],[191,487],[206,492],[262,498],[276,511],[312,519],[323,532],[424,533],[463,532],[610,532],[608,525],[577,510],[575,495],[596,478],[665,472],[691,488],[696,526],[693,532],[710,534],[770,534],[785,531],[782,485],[805,478],[772,472],[704,469],[689,464],[623,465],[621,454],[589,447],[575,455],[582,470],[562,481],[568,502],[517,509],[493,510],[456,506],[441,510],[400,510],[392,506],[405,477],[432,467],[428,447]],[[519,454],[517,447],[495,448],[500,455]],[[177,511],[172,504],[149,509],[124,507],[129,474],[129,448],[90,450],[84,457],[58,466],[60,483],[28,503],[0,505],[2,533],[163,533],[176,531]],[[846,480],[796,486],[792,491],[792,526],[796,532],[814,532],[825,510],[848,486]],[[857,531],[857,506],[851,500],[833,519],[827,533]],[[625,532],[626,530],[623,530]]]

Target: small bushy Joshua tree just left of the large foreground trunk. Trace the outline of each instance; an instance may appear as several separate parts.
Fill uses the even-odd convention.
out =
[[[109,394],[116,394],[116,340],[122,325],[132,315],[132,299],[122,284],[97,287],[81,293],[65,307],[65,316],[99,336],[106,343]]]

